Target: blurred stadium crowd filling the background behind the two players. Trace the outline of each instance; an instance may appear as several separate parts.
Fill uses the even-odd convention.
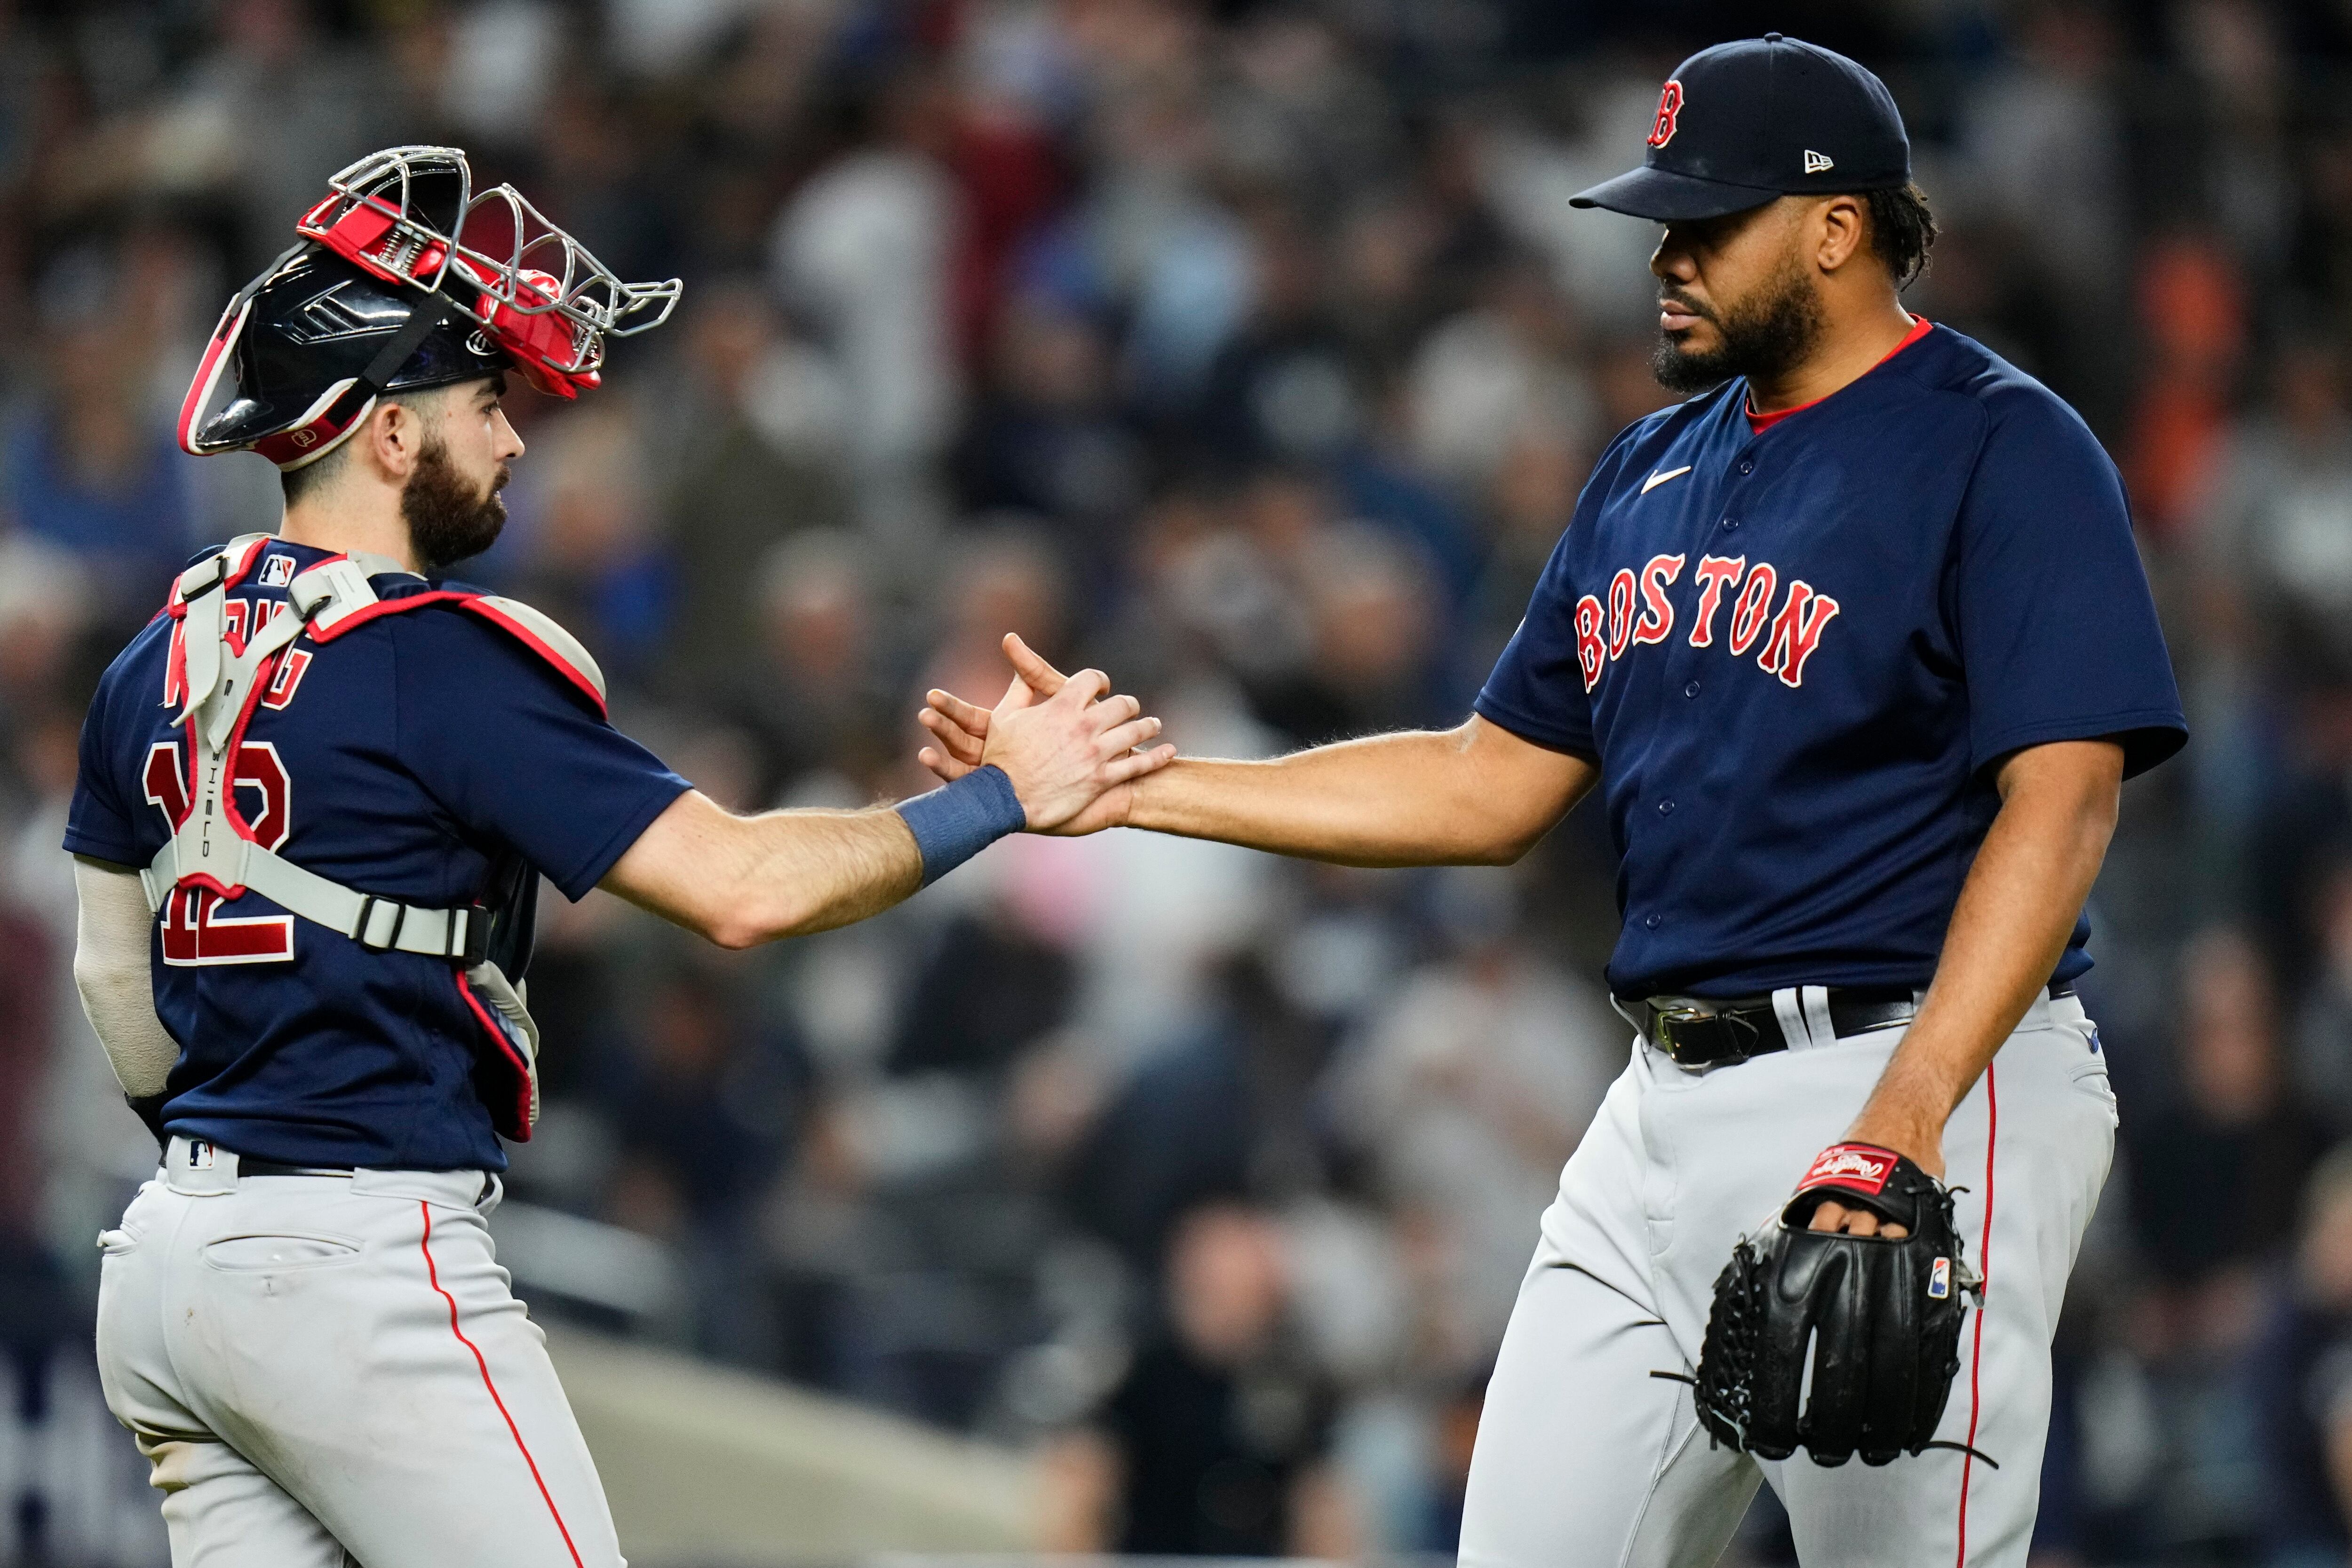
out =
[[[334,167],[456,141],[687,277],[604,393],[517,393],[466,576],[574,628],[713,797],[868,802],[922,788],[920,691],[1000,689],[1009,628],[1195,752],[1454,722],[1663,402],[1651,230],[1566,195],[1764,26],[1896,89],[1947,228],[1912,306],[2114,451],[2197,731],[2093,905],[2124,1140],[2034,1561],[2343,1563],[2343,0],[0,0],[0,1561],[158,1561],[87,1368],[89,1237],[153,1147],[73,1001],[56,839],[96,670],[275,522],[268,468],[169,416]],[[816,1434],[739,1502],[809,1455],[978,1500],[783,1509],[776,1561],[1451,1549],[1534,1215],[1625,1056],[1597,816],[1508,872],[1016,839],[750,954],[546,907],[499,1232],[583,1403],[670,1410],[647,1465]],[[668,1474],[604,1465],[616,1500]],[[689,1481],[652,1490],[713,1512]],[[1769,1505],[1736,1552],[1785,1561]]]

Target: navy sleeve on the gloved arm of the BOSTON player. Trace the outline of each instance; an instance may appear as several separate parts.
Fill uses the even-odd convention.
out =
[[[2039,386],[1985,397],[1959,508],[1955,630],[1969,759],[2110,736],[2126,776],[2187,741],[2180,691],[2114,463]]]

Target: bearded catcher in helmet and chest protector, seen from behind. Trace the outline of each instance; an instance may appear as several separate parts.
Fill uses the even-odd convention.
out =
[[[612,726],[576,637],[445,576],[506,520],[506,376],[595,388],[677,282],[621,282],[456,148],[353,165],[296,235],[179,418],[270,458],[285,517],[179,574],[82,726],[73,976],[162,1143],[99,1239],[99,1375],[181,1568],[614,1568],[485,1225],[539,1114],[541,882],[731,947],[823,931],[1167,752],[1089,675],[993,715],[946,790],[722,811]]]

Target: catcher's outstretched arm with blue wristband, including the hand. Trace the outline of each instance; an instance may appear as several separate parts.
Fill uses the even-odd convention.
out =
[[[1049,698],[1014,682],[964,778],[896,806],[736,816],[687,790],[602,886],[722,947],[830,931],[880,914],[1007,832],[1051,832],[1105,790],[1167,766],[1176,748],[1131,696],[1082,670]],[[1096,701],[1101,698],[1101,701]]]

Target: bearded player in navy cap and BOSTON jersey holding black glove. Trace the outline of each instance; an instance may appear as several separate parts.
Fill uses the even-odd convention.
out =
[[[1813,1568],[2020,1568],[2114,1147],[2084,900],[2185,741],[2114,465],[1905,313],[1886,87],[1693,54],[1644,167],[1658,376],[1449,733],[1176,762],[1063,823],[1508,863],[1585,795],[1632,1063],[1569,1159],[1470,1467],[1470,1568],[1700,1568],[1771,1481]],[[1018,642],[1028,691],[1061,677]],[[948,778],[1000,724],[934,693]]]

